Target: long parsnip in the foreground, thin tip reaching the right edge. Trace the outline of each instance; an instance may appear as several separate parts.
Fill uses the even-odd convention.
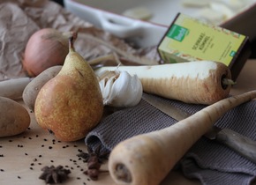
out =
[[[222,115],[254,98],[256,90],[220,100],[166,129],[124,140],[110,152],[112,179],[120,185],[158,185]]]

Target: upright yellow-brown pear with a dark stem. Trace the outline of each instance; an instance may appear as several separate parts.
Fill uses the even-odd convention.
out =
[[[34,115],[44,130],[60,141],[76,141],[87,136],[101,121],[102,93],[91,66],[69,41],[69,53],[56,77],[41,87]]]

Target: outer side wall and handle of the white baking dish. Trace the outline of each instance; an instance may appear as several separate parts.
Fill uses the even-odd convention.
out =
[[[168,28],[168,26],[161,26],[139,19],[127,18],[110,11],[103,11],[77,1],[64,0],[64,6],[80,18],[94,24],[95,27],[102,28],[122,39],[133,38],[139,47],[154,46],[161,40]]]

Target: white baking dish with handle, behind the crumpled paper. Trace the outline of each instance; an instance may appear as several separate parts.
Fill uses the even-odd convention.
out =
[[[184,1],[188,2],[188,0]],[[220,1],[215,0],[215,2]],[[255,2],[248,3],[248,1],[246,0],[247,4],[245,4],[243,0],[237,0],[237,4],[243,3],[245,9]],[[95,27],[123,39],[132,39],[139,47],[144,48],[155,46],[161,41],[178,12],[196,17],[202,9],[199,6],[186,7],[181,2],[180,0],[64,0],[64,6],[68,11],[94,24]],[[189,2],[206,3],[207,1],[191,0]],[[208,2],[213,4],[213,1]],[[232,2],[230,5],[235,6],[236,0],[222,2]],[[216,4],[213,5],[214,8],[218,7],[215,7]],[[124,11],[135,7],[147,8],[152,13],[152,18],[143,21],[123,16]],[[221,11],[220,9],[220,13]]]

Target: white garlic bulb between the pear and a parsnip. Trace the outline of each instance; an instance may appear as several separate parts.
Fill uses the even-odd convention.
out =
[[[142,84],[136,75],[125,70],[104,70],[98,76],[104,105],[132,107],[141,100]]]

